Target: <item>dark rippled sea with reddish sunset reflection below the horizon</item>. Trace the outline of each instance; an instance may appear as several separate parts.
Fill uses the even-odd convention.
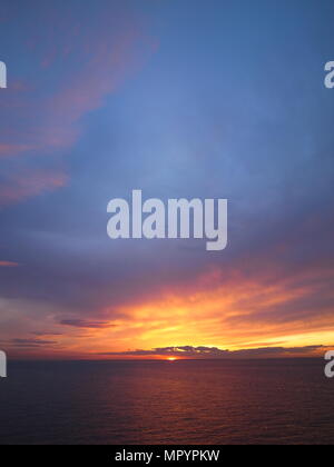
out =
[[[0,444],[334,444],[322,359],[10,362]]]

